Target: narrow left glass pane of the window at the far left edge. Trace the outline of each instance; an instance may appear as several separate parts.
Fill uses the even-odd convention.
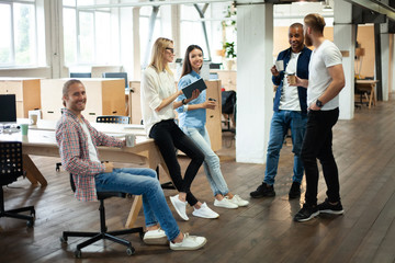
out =
[[[0,65],[11,64],[11,5],[0,4]]]

